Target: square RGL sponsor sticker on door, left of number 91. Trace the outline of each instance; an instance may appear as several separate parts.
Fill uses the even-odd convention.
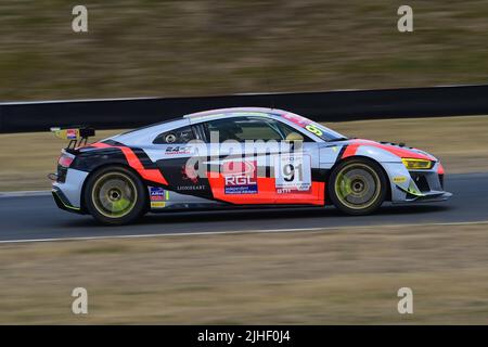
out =
[[[222,165],[226,194],[257,194],[256,162],[227,162]]]

